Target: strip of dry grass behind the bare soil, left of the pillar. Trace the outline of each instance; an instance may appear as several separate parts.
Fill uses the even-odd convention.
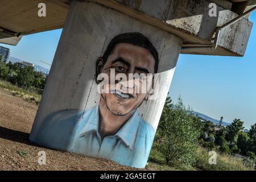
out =
[[[41,100],[40,94],[31,92],[23,88],[19,88],[18,86],[15,86],[7,81],[0,80],[0,88],[2,88],[2,90],[13,93],[13,96],[21,97],[24,100],[35,103],[37,105],[39,105],[39,102]]]

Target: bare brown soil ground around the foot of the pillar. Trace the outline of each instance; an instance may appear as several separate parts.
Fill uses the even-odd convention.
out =
[[[0,89],[0,170],[134,170],[70,152],[43,148],[28,136],[38,106]],[[19,151],[26,151],[21,156]],[[46,165],[38,164],[38,152],[46,152]],[[148,166],[147,169],[154,169]]]

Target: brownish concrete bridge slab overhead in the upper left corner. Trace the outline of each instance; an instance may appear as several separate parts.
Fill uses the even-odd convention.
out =
[[[38,16],[38,4],[46,3],[46,17]],[[68,4],[58,0],[2,0],[0,1],[0,27],[20,35],[63,28]]]

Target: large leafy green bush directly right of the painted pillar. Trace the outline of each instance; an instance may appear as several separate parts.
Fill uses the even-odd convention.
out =
[[[185,108],[181,98],[173,105],[168,97],[156,132],[154,147],[171,166],[191,165],[195,162],[201,125],[200,119]]]

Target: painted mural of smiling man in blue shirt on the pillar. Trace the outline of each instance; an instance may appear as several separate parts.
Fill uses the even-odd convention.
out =
[[[100,93],[100,102],[92,109],[63,110],[46,117],[36,135],[37,143],[143,168],[155,129],[141,118],[138,107],[150,92],[141,92],[147,85],[141,78],[114,82],[110,78],[113,72],[126,77],[154,74],[158,63],[158,52],[144,35],[130,32],[115,36],[96,62],[96,82],[110,92]],[[102,74],[108,80],[99,79]]]

